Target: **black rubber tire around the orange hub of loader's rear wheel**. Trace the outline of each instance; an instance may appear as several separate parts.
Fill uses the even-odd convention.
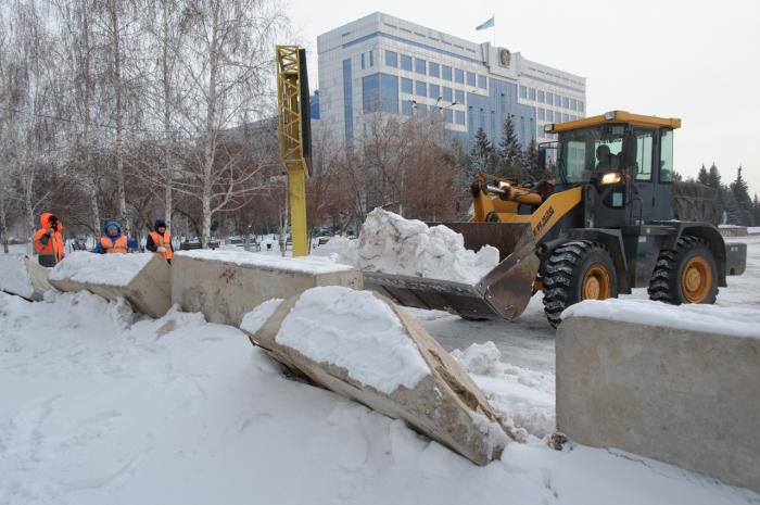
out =
[[[710,270],[704,286],[705,295],[694,296],[684,291],[684,275],[695,258],[702,258]],[[709,286],[707,286],[709,283]],[[688,289],[688,288],[686,288]],[[655,272],[649,279],[649,300],[671,305],[682,303],[715,303],[718,296],[718,265],[709,245],[702,239],[685,235],[675,243],[672,251],[660,251]],[[692,295],[689,299],[689,294]]]

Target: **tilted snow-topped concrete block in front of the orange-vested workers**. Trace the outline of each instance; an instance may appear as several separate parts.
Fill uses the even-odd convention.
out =
[[[92,254],[77,251],[55,265],[50,283],[61,291],[90,291],[106,300],[123,298],[131,307],[161,317],[172,306],[169,265],[153,253]]]

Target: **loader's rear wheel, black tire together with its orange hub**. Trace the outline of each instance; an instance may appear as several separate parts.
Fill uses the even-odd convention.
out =
[[[681,305],[715,303],[718,267],[707,243],[683,236],[672,251],[660,251],[649,280],[649,299]]]

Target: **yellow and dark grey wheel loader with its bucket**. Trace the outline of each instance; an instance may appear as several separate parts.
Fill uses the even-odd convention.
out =
[[[557,134],[554,181],[517,185],[479,174],[473,216],[442,223],[465,247],[496,247],[501,263],[474,285],[365,273],[365,285],[402,305],[468,319],[512,319],[543,291],[553,326],[582,300],[647,288],[670,304],[714,303],[747,248],[725,244],[710,223],[673,219],[677,118],[612,111],[546,125]],[[542,161],[550,150],[542,150]]]

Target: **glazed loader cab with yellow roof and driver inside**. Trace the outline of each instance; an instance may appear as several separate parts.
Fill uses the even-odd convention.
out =
[[[547,125],[548,132],[558,134],[557,189],[584,187],[577,226],[670,219],[673,129],[680,125],[680,119],[623,111]]]

